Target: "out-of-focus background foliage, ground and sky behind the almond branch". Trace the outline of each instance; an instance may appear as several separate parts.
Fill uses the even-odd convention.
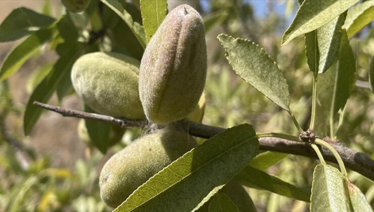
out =
[[[0,5],[6,4],[4,2]],[[24,2],[28,4],[26,7],[51,17],[67,13],[59,1],[30,1],[32,6],[30,2]],[[133,20],[142,23],[138,0],[123,4]],[[206,24],[208,76],[204,124],[231,127],[250,123],[257,132],[298,134],[285,111],[231,70],[216,39],[219,33],[226,33],[258,43],[277,62],[289,84],[292,111],[303,129],[307,128],[312,73],[306,63],[304,37],[280,47],[280,37],[298,8],[297,1],[173,0],[168,1],[168,8],[171,10],[180,4],[196,8]],[[23,6],[22,3],[19,6]],[[10,12],[11,8],[3,8],[2,18]],[[141,59],[143,49],[130,29],[99,1],[92,1],[85,13],[67,13],[67,17],[74,23],[82,42],[96,37],[88,41],[93,42],[88,51],[113,50]],[[369,61],[374,54],[374,29],[371,26],[372,23],[350,40],[357,60],[358,86],[341,114],[343,122],[338,139],[374,158],[374,95],[360,85],[360,82],[368,81]],[[66,39],[66,36],[55,37],[49,45],[35,52],[16,75],[0,84],[0,211],[110,211],[111,208],[100,199],[98,177],[101,167],[111,155],[142,134],[139,129],[126,129],[121,142],[103,154],[89,139],[82,136],[79,139],[76,130],[79,120],[45,112],[30,136],[23,136],[22,120],[27,99],[57,58],[51,49]],[[1,53],[3,59],[14,44],[1,44],[6,49]],[[60,95],[54,95],[51,102],[82,110],[82,102],[74,94],[71,84],[59,87],[65,89],[60,89]],[[318,114],[323,116],[321,111]],[[322,137],[326,127],[321,122],[317,125],[317,133]],[[310,187],[315,165],[310,158],[288,155],[267,171],[300,187]],[[349,178],[374,205],[372,181],[354,172],[349,172]],[[309,210],[307,202],[264,190],[246,189],[258,211]]]

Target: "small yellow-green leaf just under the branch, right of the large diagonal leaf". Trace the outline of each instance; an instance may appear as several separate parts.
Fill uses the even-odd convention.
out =
[[[275,151],[265,151],[257,154],[250,162],[249,166],[259,169],[267,170],[269,167],[275,165],[283,158],[287,157],[287,153],[275,152]]]

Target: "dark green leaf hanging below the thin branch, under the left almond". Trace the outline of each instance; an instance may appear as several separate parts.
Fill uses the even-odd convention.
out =
[[[88,113],[96,113],[94,110],[90,109],[86,104],[84,104],[84,111]],[[87,133],[92,143],[98,149],[105,154],[108,149],[109,132],[111,125],[109,123],[97,121],[97,120],[84,120],[87,128]]]

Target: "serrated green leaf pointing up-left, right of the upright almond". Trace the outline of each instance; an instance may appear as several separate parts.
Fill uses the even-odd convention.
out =
[[[286,79],[276,63],[263,48],[254,42],[218,35],[226,50],[226,59],[232,69],[266,97],[286,111],[290,111],[290,93]]]

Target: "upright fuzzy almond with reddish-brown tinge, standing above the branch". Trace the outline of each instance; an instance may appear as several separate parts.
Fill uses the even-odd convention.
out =
[[[152,36],[139,73],[139,95],[153,123],[188,116],[205,86],[207,52],[200,14],[189,5],[173,9]]]

